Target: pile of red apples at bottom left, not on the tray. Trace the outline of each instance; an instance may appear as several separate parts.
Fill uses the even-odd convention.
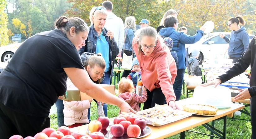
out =
[[[53,128],[45,128],[42,132],[37,133],[34,137],[25,137],[24,139],[93,139],[90,136],[82,133],[72,133],[70,128],[62,126],[56,131]],[[102,133],[101,133],[102,134]],[[9,139],[23,139],[20,135],[13,135]]]

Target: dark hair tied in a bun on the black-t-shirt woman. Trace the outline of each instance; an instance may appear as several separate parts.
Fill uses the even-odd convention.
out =
[[[65,34],[70,31],[71,27],[75,27],[76,33],[89,31],[87,24],[79,17],[68,18],[66,16],[61,16],[56,20],[55,27],[62,30]]]

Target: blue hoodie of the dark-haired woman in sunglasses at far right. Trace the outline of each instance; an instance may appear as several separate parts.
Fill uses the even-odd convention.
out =
[[[243,26],[237,31],[231,31],[230,38],[225,36],[223,39],[229,43],[228,55],[230,57],[241,57],[249,45],[249,35]]]

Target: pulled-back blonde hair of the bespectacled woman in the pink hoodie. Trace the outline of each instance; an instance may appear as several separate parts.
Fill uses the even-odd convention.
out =
[[[161,44],[163,44],[163,42],[164,42],[163,38],[157,34],[154,27],[141,28],[139,35],[137,36],[137,42],[139,42],[139,45],[138,45],[138,54],[139,55],[142,52],[140,42],[142,40],[142,37],[144,37],[144,36],[152,37],[155,39],[155,41],[159,40]]]

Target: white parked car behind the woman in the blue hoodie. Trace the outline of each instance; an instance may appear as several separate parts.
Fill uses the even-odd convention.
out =
[[[188,48],[189,57],[192,57],[191,51],[193,49],[198,49],[200,51],[200,55],[198,60],[200,63],[202,61],[213,60],[215,58],[228,58],[227,49],[229,44],[221,37],[219,34],[230,37],[230,32],[213,32],[204,35],[198,42],[194,44],[186,44],[186,48]],[[249,34],[250,41],[254,37],[254,35]]]

